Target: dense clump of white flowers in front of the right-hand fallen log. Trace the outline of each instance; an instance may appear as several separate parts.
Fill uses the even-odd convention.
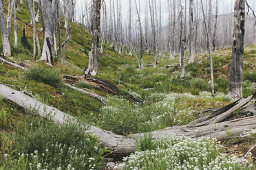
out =
[[[239,162],[222,154],[216,140],[203,138],[169,137],[156,141],[156,149],[136,151],[124,158],[118,169],[234,169],[249,170],[254,165]]]

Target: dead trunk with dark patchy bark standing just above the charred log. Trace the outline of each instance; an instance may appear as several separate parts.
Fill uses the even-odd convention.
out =
[[[89,64],[85,70],[85,75],[96,75],[98,72],[101,0],[94,0],[92,5],[92,49],[89,53]]]

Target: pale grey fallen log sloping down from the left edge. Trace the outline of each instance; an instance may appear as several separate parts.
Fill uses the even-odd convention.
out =
[[[24,93],[12,90],[12,88],[4,86],[3,84],[0,84],[0,96],[3,97],[3,99],[8,99],[14,102],[26,110],[31,112],[36,111],[39,116],[52,119],[55,123],[63,125],[67,121],[76,122],[74,117],[61,112],[56,108],[47,106]],[[98,127],[94,126],[88,127],[88,130],[85,132],[97,136],[98,142],[102,143],[104,147],[108,147],[109,150],[114,151],[115,154],[130,154],[136,149],[135,140],[133,138],[116,135],[112,132],[100,130]]]

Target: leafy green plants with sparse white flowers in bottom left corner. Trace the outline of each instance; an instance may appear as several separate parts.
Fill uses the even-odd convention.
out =
[[[1,136],[1,146],[6,146],[3,168],[98,169],[106,150],[100,149],[96,138],[85,134],[81,125],[59,126],[28,115],[14,132]]]

